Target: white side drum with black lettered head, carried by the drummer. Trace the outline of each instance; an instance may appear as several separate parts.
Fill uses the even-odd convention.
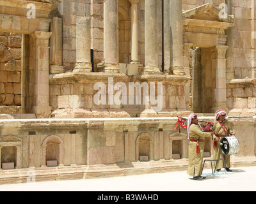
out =
[[[225,155],[237,154],[239,142],[235,136],[227,136],[221,140],[221,151]]]

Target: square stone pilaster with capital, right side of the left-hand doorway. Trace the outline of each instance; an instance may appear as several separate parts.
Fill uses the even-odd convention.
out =
[[[51,115],[49,106],[49,38],[50,32],[35,31],[31,34],[34,40],[35,92],[33,113],[38,118]]]

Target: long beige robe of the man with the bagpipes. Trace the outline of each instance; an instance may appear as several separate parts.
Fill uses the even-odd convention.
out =
[[[204,133],[198,125],[191,124],[189,138],[204,140],[205,137],[212,138],[211,133]],[[202,175],[202,164],[204,159],[204,142],[199,142],[200,153],[196,153],[197,142],[189,142],[188,175],[198,177]]]

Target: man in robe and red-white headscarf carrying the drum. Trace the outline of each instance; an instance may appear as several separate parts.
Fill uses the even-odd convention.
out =
[[[221,138],[226,136],[236,135],[236,133],[231,130],[230,124],[226,119],[226,117],[227,117],[227,113],[224,110],[218,110],[215,113],[216,120],[214,120],[212,130],[214,132],[214,135],[220,138],[220,140]],[[225,168],[227,171],[232,171],[230,170],[230,155],[225,155],[221,152],[220,142],[214,141],[212,159],[225,160],[225,167],[224,167],[223,160],[218,161],[218,166],[216,166],[217,171],[220,171],[221,168]]]

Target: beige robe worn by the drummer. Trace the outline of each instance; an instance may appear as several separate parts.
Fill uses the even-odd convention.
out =
[[[231,132],[231,128],[230,128],[230,124],[228,122],[228,120],[224,120],[223,121],[226,127],[226,131],[228,134],[230,134]],[[220,123],[217,120],[214,120],[214,124],[213,124],[213,132],[214,135],[223,135],[226,136],[225,131],[223,131],[223,128],[221,128]],[[219,137],[220,141],[221,141],[221,137]],[[221,152],[221,146],[220,146],[220,142],[217,142],[217,147],[213,147],[213,156],[212,159],[224,159],[225,160],[225,167],[226,168],[230,168],[230,155],[225,155]],[[215,163],[214,163],[215,165]],[[224,168],[224,163],[222,160],[218,161],[218,165],[216,167],[217,170]]]

